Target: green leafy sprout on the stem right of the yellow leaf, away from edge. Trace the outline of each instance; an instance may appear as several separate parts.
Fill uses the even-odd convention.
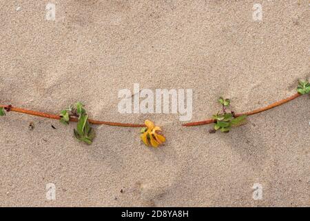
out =
[[[217,113],[212,117],[212,119],[215,120],[214,132],[220,130],[223,133],[228,133],[231,130],[231,127],[241,126],[247,123],[247,115],[240,115],[236,117],[234,115],[234,112],[226,112],[226,107],[230,104],[229,99],[223,99],[223,97],[220,97],[220,99],[218,99],[218,102],[222,104],[223,112]]]

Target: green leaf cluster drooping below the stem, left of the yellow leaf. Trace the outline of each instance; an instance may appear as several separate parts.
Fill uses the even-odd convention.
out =
[[[73,108],[73,106],[70,106],[70,108],[61,111],[60,121],[63,124],[69,124],[69,113],[72,113],[74,116],[79,117],[76,124],[76,129],[74,129],[74,137],[79,141],[85,142],[86,144],[92,144],[95,133],[90,126],[90,123],[88,122],[88,115],[83,108],[83,104],[81,102],[77,102],[74,107],[75,108]]]

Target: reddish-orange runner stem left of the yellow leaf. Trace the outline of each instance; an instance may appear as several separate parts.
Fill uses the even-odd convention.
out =
[[[50,118],[50,119],[61,119],[61,116],[59,115],[52,115],[50,113],[43,113],[43,112],[39,112],[39,111],[32,111],[32,110],[27,110],[27,109],[23,109],[23,108],[17,108],[14,106],[10,106],[10,105],[1,105],[0,104],[0,108],[5,108],[6,111],[14,111],[14,112],[18,112],[18,113],[25,113],[27,115],[34,115],[34,116],[38,116],[38,117],[45,117],[45,118]],[[70,117],[70,122],[77,122],[78,118],[76,117]],[[88,122],[90,122],[90,124],[105,124],[105,125],[110,125],[110,126],[125,126],[125,127],[143,127],[145,126],[145,124],[125,124],[125,123],[118,123],[118,122],[101,122],[99,120],[95,120],[95,119],[88,119]]]

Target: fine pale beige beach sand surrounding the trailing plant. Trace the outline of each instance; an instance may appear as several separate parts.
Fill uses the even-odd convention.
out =
[[[56,20],[45,5],[56,4]],[[254,3],[262,21],[254,21]],[[0,206],[310,206],[310,97],[249,117],[231,133],[184,127],[177,114],[118,113],[118,90],[193,90],[192,121],[296,93],[309,79],[309,1],[0,1],[0,104],[57,114],[77,101],[92,119],[140,128],[0,118]],[[28,126],[33,122],[34,129]],[[52,128],[52,125],[56,128]],[[45,185],[56,186],[47,200]],[[262,200],[254,200],[255,183]]]

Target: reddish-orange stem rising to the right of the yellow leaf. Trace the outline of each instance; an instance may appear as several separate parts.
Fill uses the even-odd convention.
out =
[[[297,98],[300,96],[300,93],[296,93],[295,95],[292,95],[291,97],[287,97],[286,99],[282,99],[278,102],[274,102],[273,104],[270,104],[268,106],[265,106],[264,108],[258,108],[254,111],[248,111],[248,112],[245,112],[245,113],[236,113],[235,116],[238,117],[240,115],[255,115],[257,113],[261,113],[263,111],[268,111],[270,110],[271,108],[275,108],[276,106],[280,106],[282,104],[285,104],[287,102],[290,102],[291,100]],[[189,122],[187,124],[182,124],[183,126],[199,126],[199,125],[205,125],[205,124],[211,124],[211,123],[214,123],[215,120],[214,119],[205,119],[201,122]]]

